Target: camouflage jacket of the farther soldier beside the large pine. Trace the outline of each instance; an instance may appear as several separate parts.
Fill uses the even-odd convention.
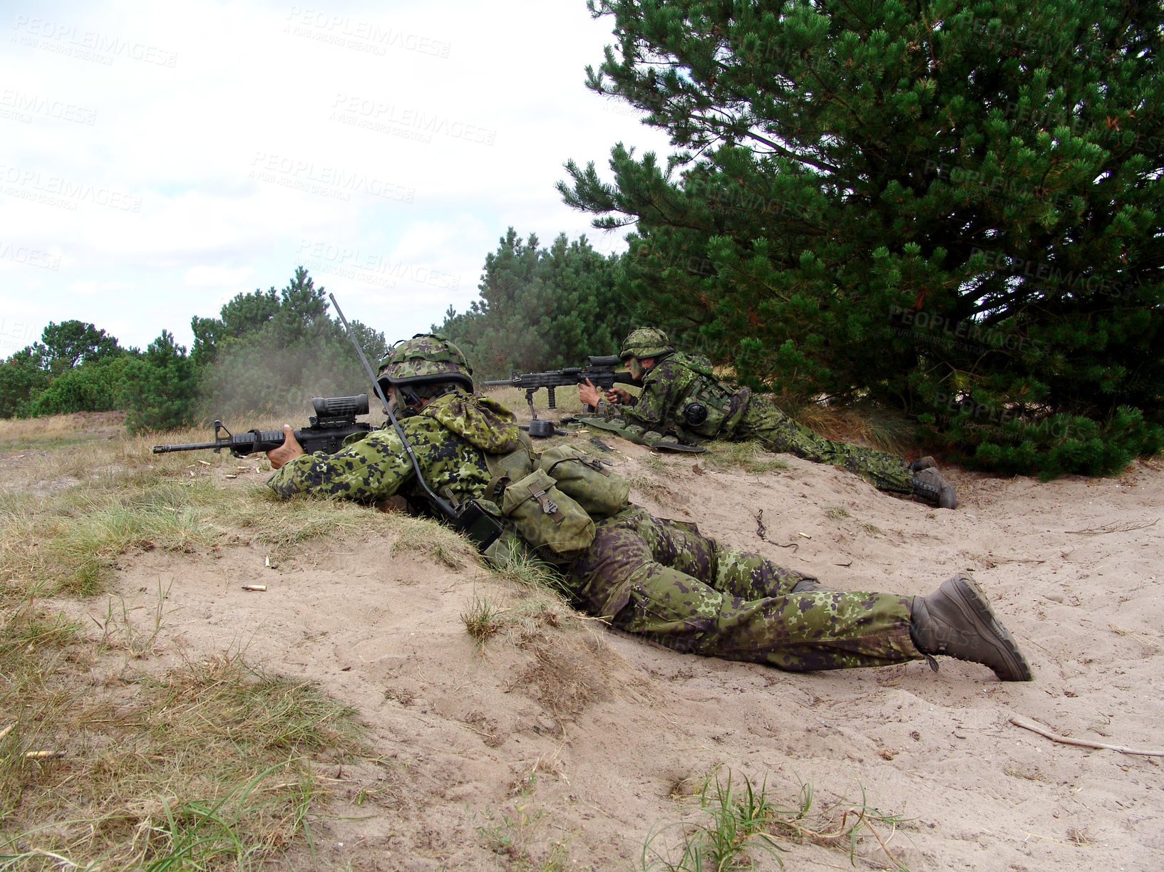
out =
[[[687,441],[731,438],[747,412],[752,393],[732,391],[700,355],[674,351],[643,377],[643,391],[623,409],[631,424]]]

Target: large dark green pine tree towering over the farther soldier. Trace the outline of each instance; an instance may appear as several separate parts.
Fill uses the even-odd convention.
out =
[[[1008,471],[1102,472],[1164,422],[1164,13],[1120,0],[595,0],[622,145],[566,201],[741,380],[873,395]]]

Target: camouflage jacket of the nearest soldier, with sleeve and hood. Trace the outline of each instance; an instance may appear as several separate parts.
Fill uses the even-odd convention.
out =
[[[520,430],[509,409],[460,388],[438,396],[418,415],[400,419],[400,428],[428,486],[457,502],[484,494],[490,478],[485,453],[510,453],[520,445]],[[416,481],[412,462],[391,426],[334,455],[297,457],[267,484],[284,499],[310,493],[372,502],[400,493],[439,514]]]

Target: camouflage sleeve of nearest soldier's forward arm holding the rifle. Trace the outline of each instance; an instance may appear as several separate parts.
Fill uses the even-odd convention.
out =
[[[412,463],[392,429],[377,430],[334,455],[297,457],[267,479],[282,499],[306,493],[362,502],[391,496],[413,477]]]

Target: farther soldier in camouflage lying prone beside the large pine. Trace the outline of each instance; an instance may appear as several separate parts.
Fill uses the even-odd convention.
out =
[[[640,441],[647,444],[668,434],[688,444],[758,439],[769,451],[787,451],[856,472],[880,491],[916,495],[942,508],[957,506],[953,487],[932,458],[910,464],[896,455],[817,436],[773,403],[753,396],[750,388],[726,387],[711,372],[710,360],[675,351],[662,330],[632,330],[619,357],[643,383],[639,396],[620,387],[606,392],[605,399],[619,407],[617,412],[626,422],[623,435],[636,438],[641,434]],[[579,385],[579,398],[590,406],[602,400],[589,381]]]

